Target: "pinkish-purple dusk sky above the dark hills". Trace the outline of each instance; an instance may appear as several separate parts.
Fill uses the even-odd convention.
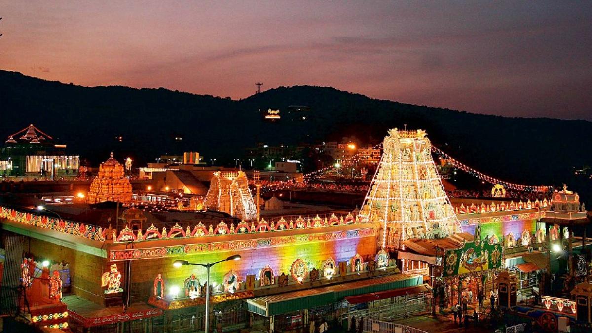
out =
[[[0,16],[0,69],[53,81],[592,120],[592,1],[0,0]]]

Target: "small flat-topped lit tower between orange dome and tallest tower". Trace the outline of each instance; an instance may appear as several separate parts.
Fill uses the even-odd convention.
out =
[[[246,221],[256,217],[249,181],[242,171],[214,172],[205,205],[208,209],[226,212]]]

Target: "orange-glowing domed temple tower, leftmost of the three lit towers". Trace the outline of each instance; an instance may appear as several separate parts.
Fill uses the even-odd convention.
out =
[[[117,201],[131,203],[131,184],[125,169],[111,153],[110,158],[99,166],[99,174],[92,180],[88,203]]]

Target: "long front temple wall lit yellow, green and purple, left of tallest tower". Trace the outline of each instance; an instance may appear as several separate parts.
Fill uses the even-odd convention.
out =
[[[246,249],[239,251],[217,251],[213,253],[181,255],[147,260],[132,261],[131,290],[133,295],[153,294],[153,282],[157,274],[162,274],[165,280],[166,293],[170,286],[183,287],[186,278],[195,274],[200,283],[205,283],[206,270],[199,266],[173,267],[175,260],[188,260],[195,263],[208,263],[223,260],[233,254],[240,254],[242,260],[221,262],[211,268],[211,283],[222,284],[224,275],[234,270],[239,274],[239,280],[244,281],[247,275],[255,275],[259,280],[259,271],[266,265],[274,270],[275,276],[285,273],[290,276],[292,263],[298,258],[307,262],[309,271],[312,268],[322,271],[324,262],[332,257],[339,265],[341,261],[350,261],[360,254],[363,260],[374,260],[376,255],[376,235],[356,238],[337,239],[333,241],[308,242],[307,244],[284,244],[275,247]],[[118,265],[124,265],[118,262]],[[349,263],[348,263],[349,267]],[[336,267],[337,269],[337,267]],[[292,281],[291,278],[289,278]],[[277,279],[276,279],[277,283]]]

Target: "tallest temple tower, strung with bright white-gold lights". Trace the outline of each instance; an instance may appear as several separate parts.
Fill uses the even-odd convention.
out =
[[[423,130],[389,130],[384,153],[360,217],[379,223],[382,246],[398,248],[410,238],[442,238],[460,232]]]

